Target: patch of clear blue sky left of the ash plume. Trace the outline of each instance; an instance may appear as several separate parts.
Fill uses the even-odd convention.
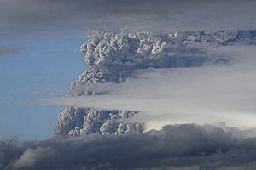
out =
[[[0,139],[46,139],[53,135],[60,106],[33,105],[30,99],[64,96],[86,70],[80,45],[84,32],[59,36],[20,36],[0,42],[20,48],[0,56]]]

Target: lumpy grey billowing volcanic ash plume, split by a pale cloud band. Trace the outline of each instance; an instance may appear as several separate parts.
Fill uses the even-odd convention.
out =
[[[84,71],[72,83],[67,96],[103,95],[93,85],[125,82],[138,69],[195,67],[208,63],[228,64],[229,58],[208,55],[204,48],[226,45],[255,45],[256,31],[195,31],[153,34],[150,32],[94,32],[81,46]],[[211,56],[211,57],[209,57]],[[213,56],[213,57],[212,57]],[[143,122],[128,123],[134,111],[103,111],[96,108],[65,108],[59,115],[55,134],[142,133]],[[123,122],[122,122],[122,121]]]

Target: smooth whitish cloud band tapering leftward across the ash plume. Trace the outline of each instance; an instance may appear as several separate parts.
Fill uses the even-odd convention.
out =
[[[208,51],[212,51],[212,48]],[[131,122],[148,122],[148,128],[166,123],[227,122],[250,128],[256,124],[254,48],[215,48],[230,57],[223,65],[137,71],[125,83],[95,86],[105,95],[39,99],[47,105],[140,111]],[[209,54],[211,54],[209,52]],[[150,124],[150,125],[149,125]]]

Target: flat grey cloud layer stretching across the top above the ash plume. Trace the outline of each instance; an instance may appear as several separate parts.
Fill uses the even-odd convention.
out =
[[[70,28],[194,31],[255,27],[253,0],[2,0],[1,34]]]

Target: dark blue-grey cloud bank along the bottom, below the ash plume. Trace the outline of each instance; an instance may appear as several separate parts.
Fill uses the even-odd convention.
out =
[[[237,128],[184,124],[121,136],[1,141],[0,168],[253,170],[256,140],[247,133]]]

